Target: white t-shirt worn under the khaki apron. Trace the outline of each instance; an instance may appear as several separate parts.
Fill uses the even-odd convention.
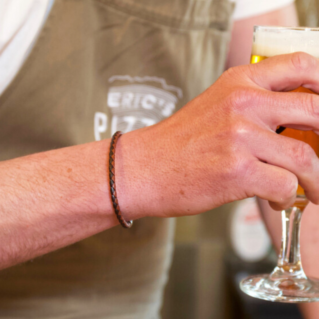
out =
[[[204,0],[205,1],[205,0]],[[230,0],[234,19],[270,12],[294,0]],[[54,0],[0,0],[0,94],[32,48]]]

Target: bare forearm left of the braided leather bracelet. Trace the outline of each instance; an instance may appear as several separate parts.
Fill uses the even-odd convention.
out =
[[[109,140],[0,162],[0,268],[118,224]]]

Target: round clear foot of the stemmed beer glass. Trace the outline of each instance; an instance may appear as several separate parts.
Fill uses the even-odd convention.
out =
[[[270,301],[319,301],[319,280],[307,277],[287,279],[256,275],[242,280],[240,288],[251,297]]]

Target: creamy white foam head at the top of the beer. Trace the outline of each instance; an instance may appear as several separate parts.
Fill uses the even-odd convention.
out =
[[[254,32],[252,55],[270,57],[298,51],[319,58],[319,29],[265,27]]]

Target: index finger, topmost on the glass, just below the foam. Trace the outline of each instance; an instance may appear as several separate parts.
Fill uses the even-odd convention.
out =
[[[278,55],[251,64],[251,79],[271,91],[292,91],[304,86],[319,93],[319,60],[304,52]]]

